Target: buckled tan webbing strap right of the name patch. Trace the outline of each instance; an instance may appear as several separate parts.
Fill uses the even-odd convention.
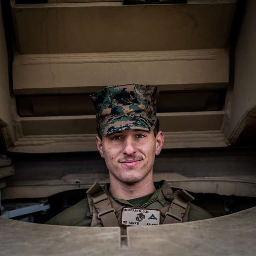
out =
[[[185,190],[179,191],[175,194],[168,212],[165,214],[165,218],[162,224],[172,224],[182,222],[188,203],[194,200],[194,197],[188,194]]]

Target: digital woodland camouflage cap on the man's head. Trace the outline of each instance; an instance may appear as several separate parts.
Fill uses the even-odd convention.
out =
[[[127,84],[108,86],[91,95],[98,132],[108,136],[122,130],[154,129],[158,94],[155,85]]]

